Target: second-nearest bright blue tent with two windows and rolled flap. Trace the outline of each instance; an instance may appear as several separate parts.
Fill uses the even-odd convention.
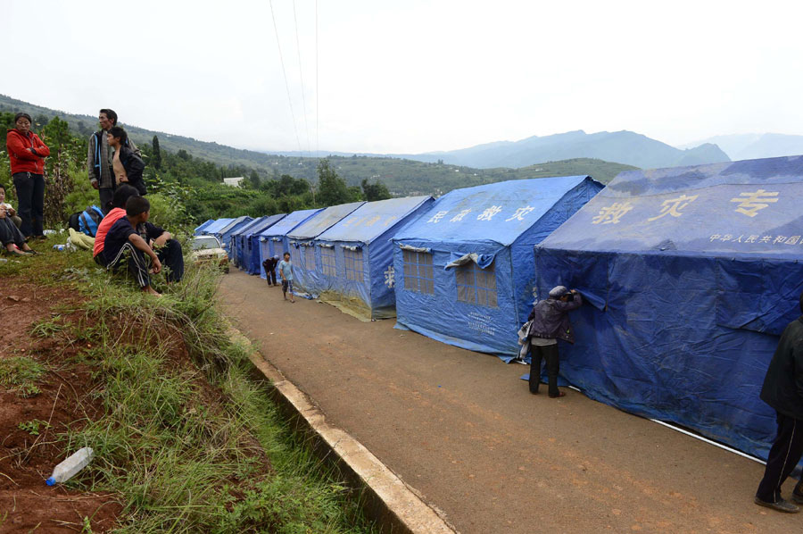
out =
[[[393,238],[397,326],[455,346],[518,354],[533,305],[533,246],[596,195],[588,176],[456,189]]]

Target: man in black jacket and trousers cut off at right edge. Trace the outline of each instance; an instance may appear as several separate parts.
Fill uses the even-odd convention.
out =
[[[800,295],[800,312],[803,313],[803,295]],[[803,316],[783,330],[766,371],[761,400],[777,413],[778,436],[766,460],[756,504],[797,513],[800,508],[782,498],[781,486],[803,455]],[[792,491],[792,500],[803,505],[803,479]]]

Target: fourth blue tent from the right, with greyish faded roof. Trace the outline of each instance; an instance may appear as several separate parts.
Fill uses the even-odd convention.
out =
[[[312,240],[362,204],[365,203],[352,202],[350,204],[329,206],[296,226],[287,234],[287,244],[290,246],[290,255],[293,261],[293,286],[295,289],[309,291],[308,286],[312,277],[317,276],[315,271],[316,264],[307,265],[305,263],[306,258],[310,255],[306,253],[305,249],[313,246]]]

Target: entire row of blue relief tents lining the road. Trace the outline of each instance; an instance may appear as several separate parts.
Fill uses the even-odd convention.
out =
[[[564,379],[766,457],[774,411],[758,392],[799,315],[801,195],[803,157],[783,157],[628,171],[606,188],[514,180],[199,230],[228,234],[253,274],[289,251],[302,291],[497,355],[517,354],[535,299],[577,288],[587,304],[573,313],[575,345],[561,346]]]

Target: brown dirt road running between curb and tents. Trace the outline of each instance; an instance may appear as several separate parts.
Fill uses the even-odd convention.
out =
[[[752,502],[763,466],[505,365],[360,322],[239,271],[221,296],[262,354],[463,534],[794,532]],[[545,393],[546,388],[542,388]],[[787,493],[792,483],[787,482]]]

